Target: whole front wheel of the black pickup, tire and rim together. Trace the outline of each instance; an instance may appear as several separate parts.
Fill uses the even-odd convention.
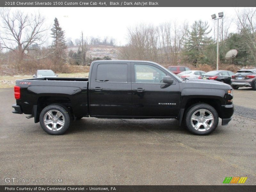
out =
[[[207,135],[218,126],[219,116],[211,105],[200,103],[188,108],[185,121],[190,132],[196,135]]]

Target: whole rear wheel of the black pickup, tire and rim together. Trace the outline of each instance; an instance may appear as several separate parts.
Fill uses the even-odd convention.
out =
[[[68,130],[70,113],[60,105],[45,107],[39,117],[42,129],[51,135],[61,135]]]

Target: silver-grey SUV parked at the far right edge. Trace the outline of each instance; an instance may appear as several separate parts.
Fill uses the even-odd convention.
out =
[[[241,69],[237,71],[231,78],[231,86],[233,89],[252,87],[252,90],[256,91],[256,69]]]

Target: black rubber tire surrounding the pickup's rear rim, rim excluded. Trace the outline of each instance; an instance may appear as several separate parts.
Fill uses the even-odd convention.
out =
[[[64,118],[65,118],[65,124],[64,126],[62,127],[62,129],[60,129],[59,131],[52,131],[50,129],[48,129],[45,124],[44,124],[44,115],[50,111],[50,110],[58,110],[60,111]],[[49,105],[47,107],[45,107],[41,113],[40,113],[40,116],[39,116],[39,121],[40,121],[40,125],[42,127],[42,129],[47,132],[48,134],[51,134],[51,135],[61,135],[63,134],[64,132],[66,132],[68,130],[68,127],[70,125],[70,113],[69,111],[64,108],[63,106],[60,106],[60,105]]]

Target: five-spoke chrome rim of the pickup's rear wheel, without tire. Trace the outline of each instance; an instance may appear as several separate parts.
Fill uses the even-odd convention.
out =
[[[44,125],[51,131],[59,131],[65,125],[65,117],[58,110],[50,110],[44,115]]]

